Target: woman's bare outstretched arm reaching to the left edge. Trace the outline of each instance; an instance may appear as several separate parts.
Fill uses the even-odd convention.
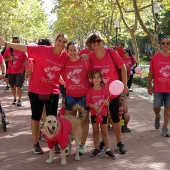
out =
[[[5,47],[10,47],[15,50],[27,52],[27,46],[22,45],[22,44],[17,44],[17,43],[10,43],[4,40],[2,36],[0,36],[0,46],[5,46]]]

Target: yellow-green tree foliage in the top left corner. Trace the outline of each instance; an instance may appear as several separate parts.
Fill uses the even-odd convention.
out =
[[[7,40],[15,35],[21,41],[35,41],[49,36],[47,15],[42,0],[1,0],[0,34]]]

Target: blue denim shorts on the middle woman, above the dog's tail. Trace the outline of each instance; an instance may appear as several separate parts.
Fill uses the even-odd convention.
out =
[[[89,108],[86,107],[86,96],[83,97],[72,97],[66,94],[65,97],[65,108],[66,110],[72,111],[72,108],[75,104],[79,104],[88,110]]]

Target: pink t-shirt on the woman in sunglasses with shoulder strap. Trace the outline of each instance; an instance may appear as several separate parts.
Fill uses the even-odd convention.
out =
[[[116,66],[114,62],[116,63],[118,68],[121,68],[122,65],[124,64],[123,59],[113,49],[109,49],[109,51],[112,54],[112,56],[110,56],[108,49],[105,48],[105,55],[103,58],[100,58],[100,59],[96,57],[96,54],[94,51],[92,51],[89,54],[89,59],[93,66],[93,70],[101,71],[103,82],[107,89],[109,88],[109,85],[112,81],[119,79],[119,75],[116,70]],[[114,58],[114,62],[111,57]],[[114,97],[116,96],[113,96],[113,95],[111,96],[111,98],[114,98]]]

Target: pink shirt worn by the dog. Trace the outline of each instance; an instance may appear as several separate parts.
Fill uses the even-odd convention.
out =
[[[72,126],[68,120],[62,119],[60,116],[58,116],[57,119],[60,122],[60,129],[57,135],[52,138],[46,138],[46,140],[49,149],[52,149],[55,146],[55,144],[59,144],[61,149],[63,150],[68,145],[69,142],[68,135],[72,130]]]

